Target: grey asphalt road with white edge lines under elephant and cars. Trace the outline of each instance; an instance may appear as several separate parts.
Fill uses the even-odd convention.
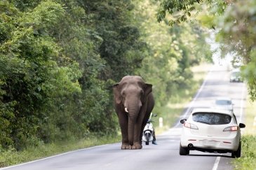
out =
[[[234,101],[234,113],[238,122],[243,122],[243,109],[246,99],[244,83],[229,83],[229,72],[223,66],[214,66],[209,71],[201,89],[194,100],[184,109],[180,119],[187,118],[192,108],[211,107],[217,97],[231,97]],[[158,145],[143,145],[141,150],[121,150],[121,143],[96,146],[71,153],[48,157],[43,160],[28,162],[2,169],[51,170],[51,169],[90,169],[90,170],[215,170],[233,169],[231,154],[202,153],[190,151],[189,155],[180,156],[179,121],[161,135],[156,134]],[[243,148],[242,148],[243,149]]]

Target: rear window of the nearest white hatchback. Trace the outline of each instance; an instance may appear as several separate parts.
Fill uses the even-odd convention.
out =
[[[208,125],[225,125],[229,124],[231,116],[221,113],[194,113],[192,120]]]

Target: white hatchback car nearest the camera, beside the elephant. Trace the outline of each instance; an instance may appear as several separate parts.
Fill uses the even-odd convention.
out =
[[[180,155],[189,155],[189,150],[209,153],[231,153],[241,157],[241,132],[231,111],[215,108],[195,108],[189,118],[182,119]]]

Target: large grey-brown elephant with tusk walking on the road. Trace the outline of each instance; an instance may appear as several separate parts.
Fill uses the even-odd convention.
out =
[[[141,149],[143,129],[154,108],[152,85],[140,76],[124,76],[113,85],[113,91],[122,134],[121,149]]]

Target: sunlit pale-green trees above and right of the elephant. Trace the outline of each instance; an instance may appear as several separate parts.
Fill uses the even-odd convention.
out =
[[[209,58],[210,47],[205,41],[206,31],[198,24],[174,27],[159,24],[154,17],[158,4],[152,1],[137,1],[136,4],[135,16],[140,18],[142,35],[148,45],[148,53],[144,53],[146,57],[137,73],[153,84],[157,101],[154,111],[160,111],[179,90],[191,87],[193,75],[189,68]]]

